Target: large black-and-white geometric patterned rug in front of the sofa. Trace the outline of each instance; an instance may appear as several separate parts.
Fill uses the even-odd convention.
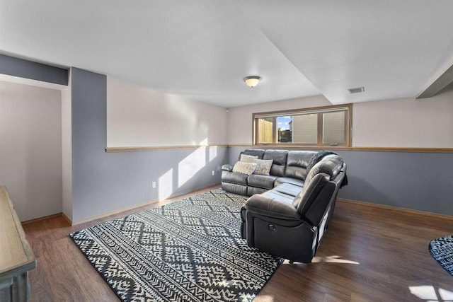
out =
[[[252,301],[282,260],[241,239],[244,202],[213,190],[69,236],[122,301]]]

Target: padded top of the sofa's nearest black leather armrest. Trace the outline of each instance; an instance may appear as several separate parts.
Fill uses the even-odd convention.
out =
[[[300,221],[301,216],[297,208],[292,204],[294,197],[280,194],[279,192],[264,192],[250,197],[245,208],[250,214],[268,216],[273,219],[284,219],[289,221]]]

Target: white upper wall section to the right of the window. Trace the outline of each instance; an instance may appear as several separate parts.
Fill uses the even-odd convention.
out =
[[[453,90],[353,106],[354,146],[453,148]]]

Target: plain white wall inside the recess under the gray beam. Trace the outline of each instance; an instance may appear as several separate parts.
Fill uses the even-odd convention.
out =
[[[0,184],[21,221],[62,212],[61,92],[0,81]]]

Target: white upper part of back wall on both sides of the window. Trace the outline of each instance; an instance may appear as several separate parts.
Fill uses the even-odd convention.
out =
[[[253,112],[331,105],[322,95],[230,108],[228,144],[252,144]],[[352,146],[453,148],[453,90],[352,105]]]

